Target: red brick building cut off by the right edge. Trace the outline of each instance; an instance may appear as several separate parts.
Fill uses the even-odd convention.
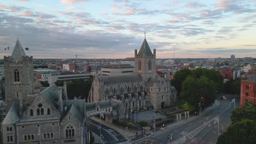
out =
[[[246,80],[241,80],[240,105],[245,101],[251,101],[256,104],[256,73],[247,75]]]

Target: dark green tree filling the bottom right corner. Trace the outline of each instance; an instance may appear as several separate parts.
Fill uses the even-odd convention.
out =
[[[230,127],[218,137],[217,143],[256,143],[256,123],[248,119],[243,119],[241,122],[230,125]]]

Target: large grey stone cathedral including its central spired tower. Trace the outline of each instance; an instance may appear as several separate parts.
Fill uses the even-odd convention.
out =
[[[114,98],[123,101],[125,113],[141,109],[165,109],[177,101],[177,91],[170,80],[156,74],[156,50],[149,48],[144,39],[139,52],[135,50],[135,74],[96,75],[88,101]]]

